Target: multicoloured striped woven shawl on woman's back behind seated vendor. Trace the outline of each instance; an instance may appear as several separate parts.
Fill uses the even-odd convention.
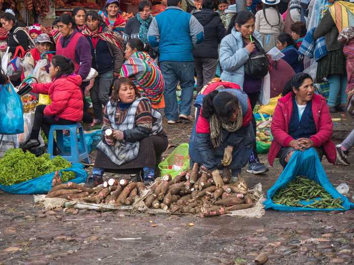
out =
[[[143,95],[150,99],[152,107],[162,100],[165,81],[159,67],[147,52],[132,54],[123,64],[120,77],[129,77]]]

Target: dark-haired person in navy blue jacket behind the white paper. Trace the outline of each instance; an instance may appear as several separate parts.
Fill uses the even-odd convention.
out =
[[[282,59],[294,69],[295,74],[303,71],[302,60],[296,47],[297,45],[290,34],[281,33],[278,36],[277,48],[283,52],[285,56]]]

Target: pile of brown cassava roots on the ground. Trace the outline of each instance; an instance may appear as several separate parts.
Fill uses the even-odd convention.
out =
[[[141,182],[125,179],[109,179],[93,189],[69,182],[53,187],[47,197],[119,206],[131,205],[136,198],[143,196],[147,208],[201,217],[225,215],[229,211],[253,207],[255,200],[249,194],[245,181],[239,177],[236,183],[230,183],[230,179],[230,170],[224,169],[222,178],[213,179],[208,170],[194,164],[192,170],[185,170],[173,179],[168,174],[164,175],[148,188]]]

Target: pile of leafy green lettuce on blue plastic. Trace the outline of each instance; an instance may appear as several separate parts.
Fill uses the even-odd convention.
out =
[[[71,168],[71,163],[59,155],[51,160],[48,153],[36,157],[29,151],[12,148],[0,158],[0,184],[10,186],[67,168]],[[74,179],[75,173],[62,172],[61,176],[66,182]]]

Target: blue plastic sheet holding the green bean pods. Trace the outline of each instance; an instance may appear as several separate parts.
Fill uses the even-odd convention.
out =
[[[295,207],[286,206],[282,204],[275,204],[272,200],[274,194],[278,189],[286,186],[297,176],[306,176],[307,178],[319,183],[333,198],[338,198],[343,201],[341,208],[333,209],[320,209],[320,208],[310,208],[310,207]],[[285,167],[282,174],[280,174],[277,181],[267,192],[267,200],[264,201],[264,206],[266,209],[273,208],[276,210],[288,210],[288,211],[300,211],[300,210],[348,210],[350,207],[354,207],[347,197],[341,195],[328,180],[326,172],[322,166],[320,158],[314,148],[309,148],[305,151],[295,151],[291,156],[288,165]]]

